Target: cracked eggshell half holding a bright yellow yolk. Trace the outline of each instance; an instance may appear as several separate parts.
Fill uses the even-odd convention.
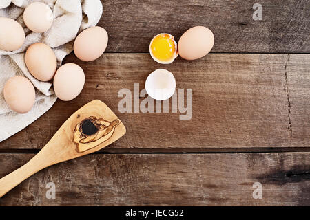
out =
[[[178,45],[171,34],[157,34],[149,43],[149,54],[154,61],[169,64],[178,56]]]

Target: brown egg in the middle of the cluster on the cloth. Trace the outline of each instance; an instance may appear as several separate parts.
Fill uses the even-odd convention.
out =
[[[56,56],[45,43],[34,43],[28,47],[25,64],[32,76],[41,81],[51,80],[57,67]]]

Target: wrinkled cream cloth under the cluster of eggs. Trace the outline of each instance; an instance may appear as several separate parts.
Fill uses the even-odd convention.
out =
[[[59,67],[63,58],[72,52],[76,35],[95,26],[103,10],[100,0],[41,0],[52,9],[54,22],[47,32],[34,33],[23,22],[23,11],[34,1],[38,0],[0,1],[0,17],[16,20],[25,31],[25,42],[21,48],[13,52],[0,50],[0,142],[37,120],[56,101],[52,83],[40,82],[28,72],[24,58],[27,48],[37,42],[49,45],[56,54]],[[4,84],[14,75],[27,77],[36,88],[34,107],[25,114],[11,111],[3,98]]]

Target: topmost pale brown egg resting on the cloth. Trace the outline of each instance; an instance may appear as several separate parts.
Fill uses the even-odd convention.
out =
[[[32,32],[43,33],[52,26],[54,14],[48,5],[36,1],[25,8],[23,21]]]

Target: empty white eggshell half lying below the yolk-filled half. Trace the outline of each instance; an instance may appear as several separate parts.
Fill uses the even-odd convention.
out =
[[[156,69],[145,81],[147,94],[156,100],[170,98],[176,90],[176,79],[167,69]]]

